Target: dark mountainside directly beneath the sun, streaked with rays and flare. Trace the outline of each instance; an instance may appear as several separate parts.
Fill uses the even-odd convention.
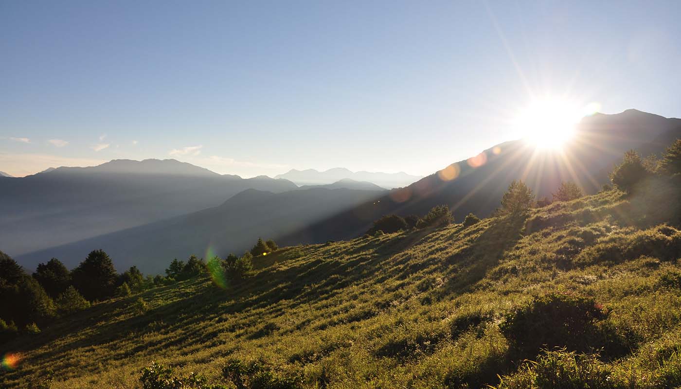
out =
[[[575,181],[584,193],[596,193],[609,182],[607,174],[624,151],[661,153],[676,138],[681,138],[681,119],[638,110],[587,116],[562,151],[537,149],[522,140],[498,144],[279,240],[294,244],[351,238],[382,215],[424,215],[439,204],[447,204],[458,221],[468,213],[486,217],[517,179],[532,187],[537,198],[550,197],[560,181]]]

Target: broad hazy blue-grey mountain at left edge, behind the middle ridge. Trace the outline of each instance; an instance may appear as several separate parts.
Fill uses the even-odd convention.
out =
[[[221,176],[174,159],[118,159],[0,180],[0,247],[11,255],[217,206],[245,189],[297,189],[266,176]]]

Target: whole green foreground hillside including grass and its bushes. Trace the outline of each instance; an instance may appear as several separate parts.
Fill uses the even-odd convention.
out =
[[[171,264],[133,296],[35,321],[3,344],[22,360],[0,386],[678,388],[680,192],[650,172],[537,208],[516,182],[466,226],[213,258],[182,281]]]

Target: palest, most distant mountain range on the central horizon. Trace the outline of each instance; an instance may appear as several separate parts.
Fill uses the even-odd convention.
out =
[[[274,178],[285,178],[297,185],[328,185],[349,178],[355,181],[368,181],[385,189],[404,187],[417,181],[421,176],[412,176],[405,172],[381,173],[381,172],[351,172],[346,168],[333,168],[324,172],[314,169],[289,170],[285,174],[279,174]]]

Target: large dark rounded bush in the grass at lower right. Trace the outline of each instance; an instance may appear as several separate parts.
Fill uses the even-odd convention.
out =
[[[606,316],[592,298],[550,294],[509,313],[500,329],[516,356],[532,358],[547,347],[588,350]]]

